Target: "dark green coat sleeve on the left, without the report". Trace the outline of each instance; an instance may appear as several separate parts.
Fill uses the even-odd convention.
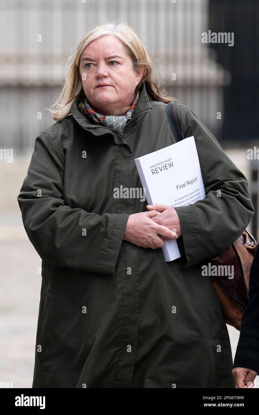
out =
[[[39,256],[56,266],[114,274],[129,215],[65,205],[60,154],[50,134],[39,134],[17,197],[25,231]]]

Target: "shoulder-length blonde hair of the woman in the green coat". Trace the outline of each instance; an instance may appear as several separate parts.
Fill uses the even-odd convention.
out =
[[[126,21],[123,22],[121,19],[109,21],[104,18],[103,20],[105,22],[104,24],[96,25],[94,29],[91,29],[79,41],[76,51],[74,54],[69,56],[67,60],[68,66],[71,61],[72,63],[69,67],[64,86],[57,101],[55,101],[49,108],[45,107],[46,110],[51,112],[52,118],[56,121],[63,120],[70,114],[72,103],[76,98],[80,98],[78,106],[79,110],[81,110],[84,105],[86,96],[82,87],[81,75],[79,72],[80,59],[84,49],[91,41],[99,39],[105,35],[114,35],[121,40],[125,47],[126,53],[132,60],[135,71],[138,72],[139,68],[144,69],[141,81],[136,86],[134,98],[136,98],[137,90],[141,88],[143,83],[145,83],[148,98],[150,100],[168,103],[175,99],[174,97],[168,97],[165,93],[164,87],[161,88],[160,79],[153,70],[152,60],[150,59],[145,46],[135,30],[128,26]],[[124,114],[129,110],[129,108],[129,106],[123,108],[121,113]]]

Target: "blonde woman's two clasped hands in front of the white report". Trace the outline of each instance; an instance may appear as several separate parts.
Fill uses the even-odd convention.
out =
[[[161,248],[182,235],[179,217],[168,205],[153,203],[146,212],[129,215],[123,239],[143,248]]]

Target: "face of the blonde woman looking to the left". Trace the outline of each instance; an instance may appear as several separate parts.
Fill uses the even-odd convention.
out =
[[[87,99],[103,115],[119,115],[133,100],[143,76],[143,69],[136,73],[123,43],[113,35],[100,37],[86,46],[79,71]]]

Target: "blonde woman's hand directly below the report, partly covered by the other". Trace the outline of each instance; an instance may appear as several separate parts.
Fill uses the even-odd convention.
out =
[[[153,205],[147,205],[147,209],[155,209],[158,212],[158,215],[154,215],[152,217],[152,220],[155,223],[158,223],[158,225],[166,226],[167,228],[172,229],[174,232],[176,232],[178,236],[182,236],[179,217],[174,207],[169,205],[161,205],[161,203],[153,203]],[[168,240],[164,237],[163,239],[165,241]]]

